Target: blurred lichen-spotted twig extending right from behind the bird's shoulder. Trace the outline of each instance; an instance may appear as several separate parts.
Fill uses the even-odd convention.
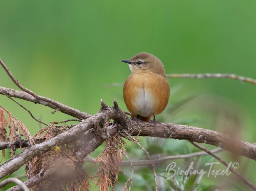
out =
[[[171,73],[166,75],[167,78],[229,78],[243,81],[256,85],[256,80],[244,76],[237,76],[232,73]]]

